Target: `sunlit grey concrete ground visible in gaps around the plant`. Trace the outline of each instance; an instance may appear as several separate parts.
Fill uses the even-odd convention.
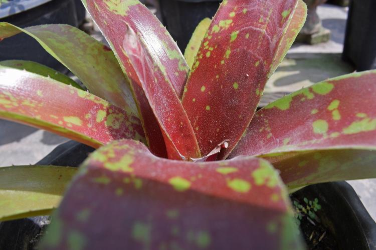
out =
[[[331,40],[317,45],[294,44],[265,89],[263,104],[328,77],[353,71],[340,60],[347,8],[324,4],[318,14]],[[98,31],[93,36],[104,41]],[[0,166],[34,164],[66,138],[0,119]],[[376,220],[376,179],[348,181]]]

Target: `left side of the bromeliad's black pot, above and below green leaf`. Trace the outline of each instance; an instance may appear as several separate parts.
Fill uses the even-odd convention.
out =
[[[76,141],[68,141],[57,146],[37,164],[78,166],[94,148]],[[0,222],[1,250],[34,250],[50,216],[36,216]]]

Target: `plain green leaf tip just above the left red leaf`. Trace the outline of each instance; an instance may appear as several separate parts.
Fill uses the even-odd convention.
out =
[[[42,65],[38,62],[26,61],[26,60],[5,60],[5,61],[0,61],[0,65],[6,66],[6,67],[18,68],[18,69],[25,69],[26,71],[40,74],[46,77],[51,77],[54,80],[63,82],[68,85],[72,85],[79,89],[83,89],[79,84],[77,84],[77,82],[72,80],[67,75],[62,74],[59,71],[56,71],[55,69]]]

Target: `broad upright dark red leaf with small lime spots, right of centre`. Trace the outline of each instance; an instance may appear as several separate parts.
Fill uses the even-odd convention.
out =
[[[203,155],[251,121],[297,0],[223,1],[196,56],[183,96]]]

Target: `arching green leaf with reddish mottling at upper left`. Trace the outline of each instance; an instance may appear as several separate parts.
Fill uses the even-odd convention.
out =
[[[69,68],[89,91],[138,116],[121,68],[109,47],[84,31],[66,24],[48,24],[22,29],[0,23],[0,38],[25,32]]]

